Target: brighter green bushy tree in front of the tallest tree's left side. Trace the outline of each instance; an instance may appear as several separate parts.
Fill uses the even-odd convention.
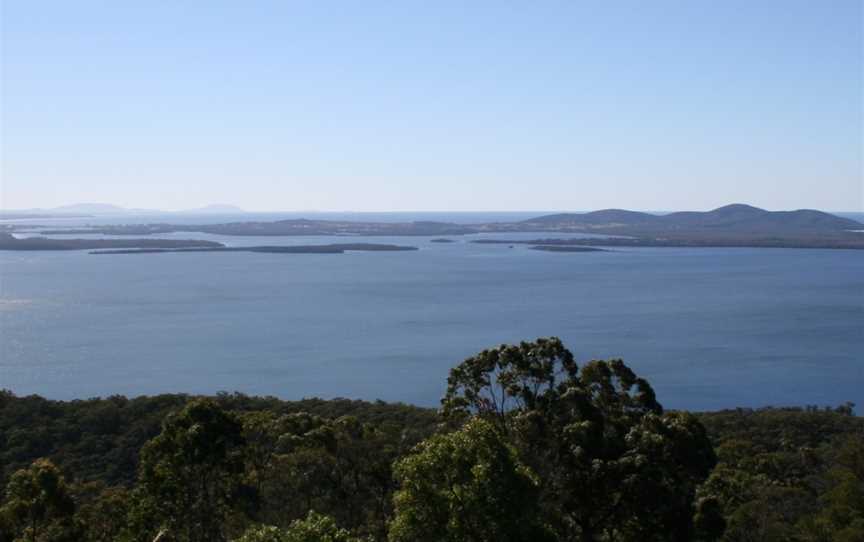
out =
[[[489,422],[434,436],[396,464],[391,542],[548,540],[537,481]]]

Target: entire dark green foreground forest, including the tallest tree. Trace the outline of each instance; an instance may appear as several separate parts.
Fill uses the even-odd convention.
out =
[[[0,542],[864,540],[864,421],[665,410],[557,338],[450,371],[438,409],[0,392]]]

